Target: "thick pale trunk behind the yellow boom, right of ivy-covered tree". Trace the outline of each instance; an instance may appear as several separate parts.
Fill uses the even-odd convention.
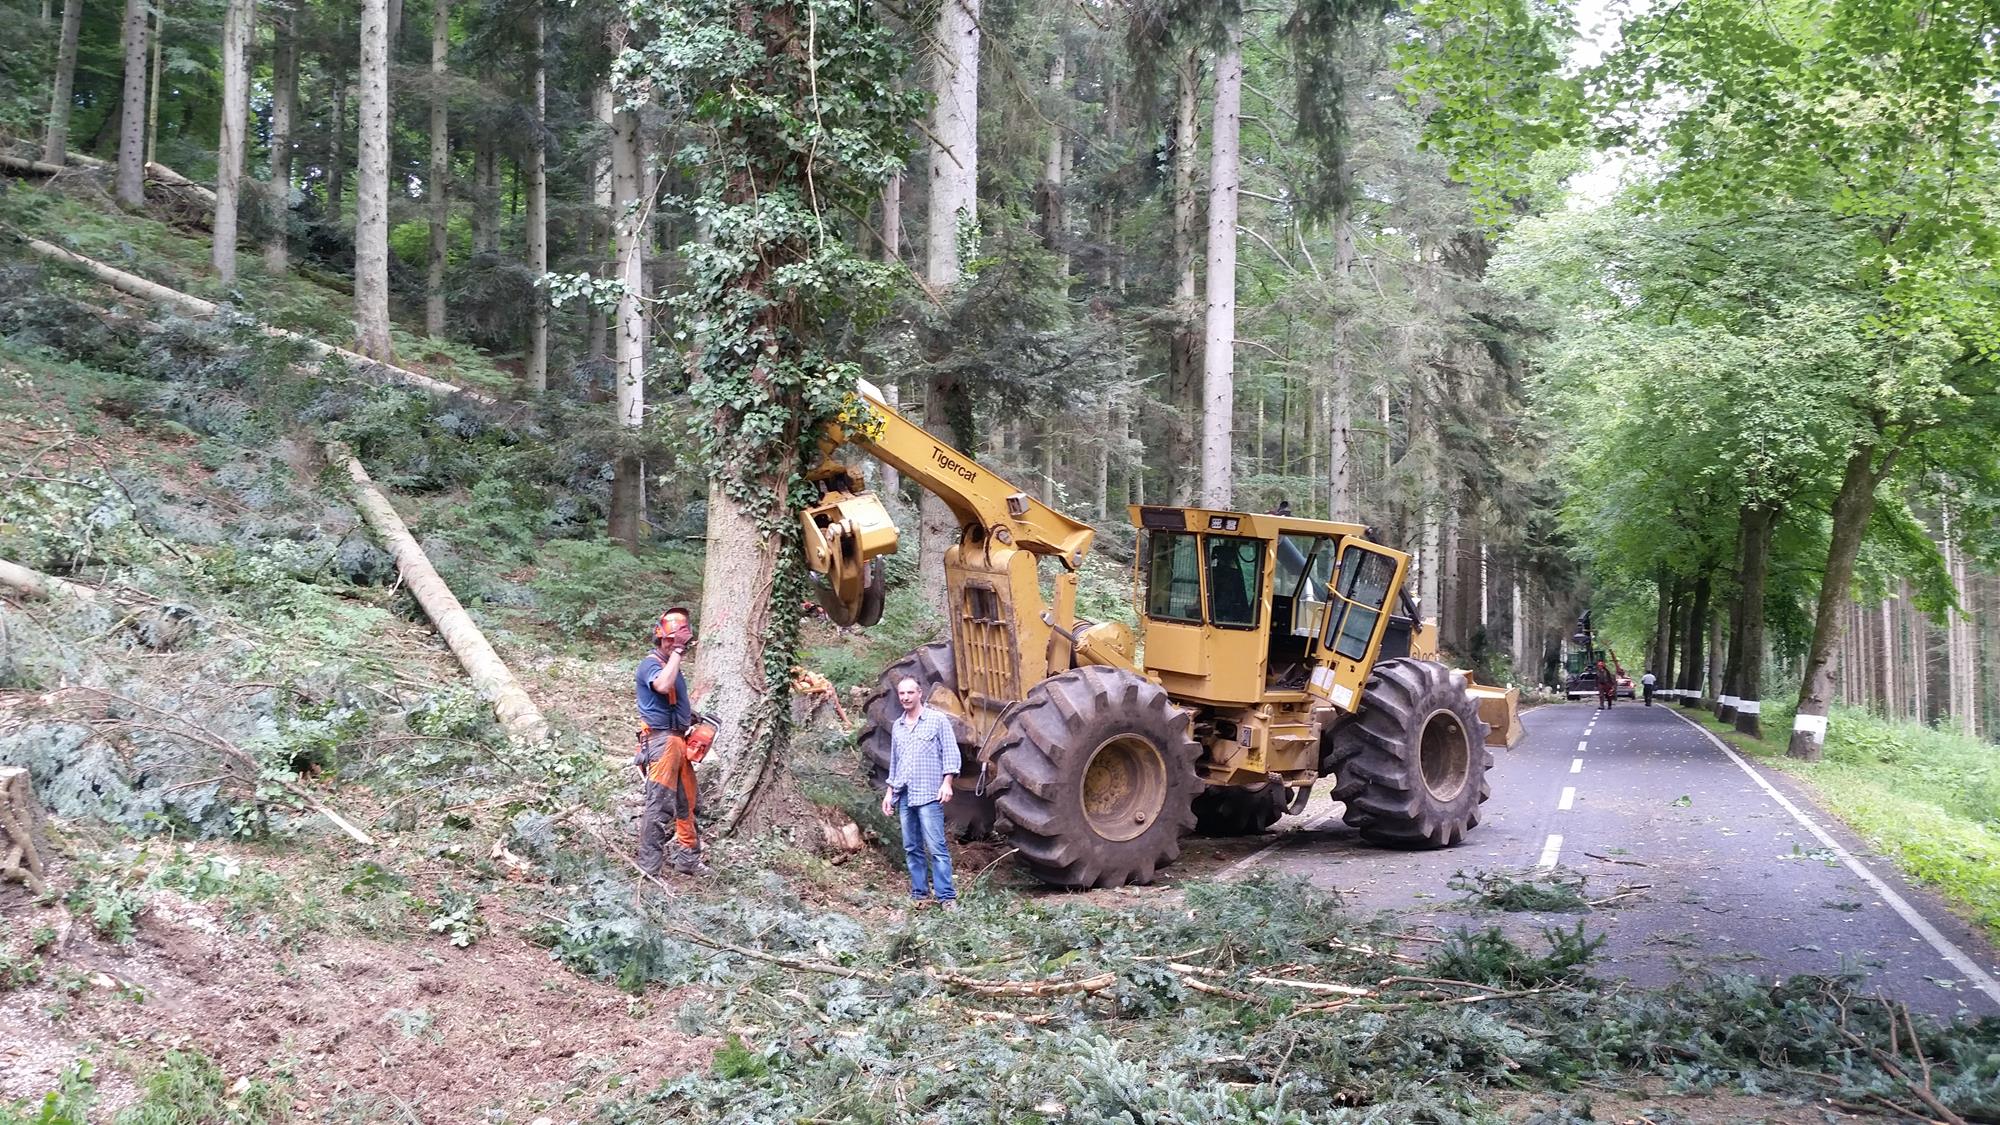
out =
[[[942,298],[958,284],[958,236],[978,232],[980,170],[980,0],[944,0],[930,32],[930,214],[924,230],[924,280]],[[924,426],[970,446],[970,432],[958,432],[954,414],[958,380],[936,376],[924,394]],[[960,416],[968,422],[970,418]],[[918,498],[918,583],[924,601],[944,607],[944,552],[958,540],[958,518],[928,490]]]

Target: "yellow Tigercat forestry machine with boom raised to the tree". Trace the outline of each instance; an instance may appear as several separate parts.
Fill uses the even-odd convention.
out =
[[[946,813],[1006,829],[1058,887],[1150,883],[1188,831],[1248,835],[1332,775],[1348,825],[1388,847],[1448,847],[1486,801],[1488,723],[1464,673],[1410,659],[1408,556],[1360,524],[1134,506],[1144,637],[1076,617],[1092,528],[994,476],[860,386],[810,472],[800,514],[828,617],[882,617],[896,526],[842,444],[896,466],[958,516],[944,554],[950,641],[882,673],[860,743],[888,777],[896,685],[914,679],[958,733]],[[1044,577],[1042,560],[1060,562]],[[1144,663],[1140,661],[1144,653]],[[1510,693],[1484,689],[1512,707]],[[1508,723],[1510,715],[1492,715]],[[1502,727],[1506,731],[1506,727]]]

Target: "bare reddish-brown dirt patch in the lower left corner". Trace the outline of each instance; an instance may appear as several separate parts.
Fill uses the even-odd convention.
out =
[[[566,1121],[612,1089],[702,1069],[718,1045],[674,1027],[682,991],[630,997],[550,961],[518,933],[534,919],[498,895],[470,949],[328,937],[290,951],[174,893],[152,897],[128,947],[20,897],[0,909],[20,933],[58,929],[42,981],[0,1005],[0,1099],[54,1089],[96,1045],[100,1111],[116,1111],[138,1093],[120,1071],[192,1047],[230,1083],[288,1079],[308,1119]]]

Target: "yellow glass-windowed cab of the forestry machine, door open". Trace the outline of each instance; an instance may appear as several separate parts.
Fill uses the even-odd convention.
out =
[[[1134,506],[1146,671],[1216,705],[1360,701],[1408,556],[1366,528]]]

